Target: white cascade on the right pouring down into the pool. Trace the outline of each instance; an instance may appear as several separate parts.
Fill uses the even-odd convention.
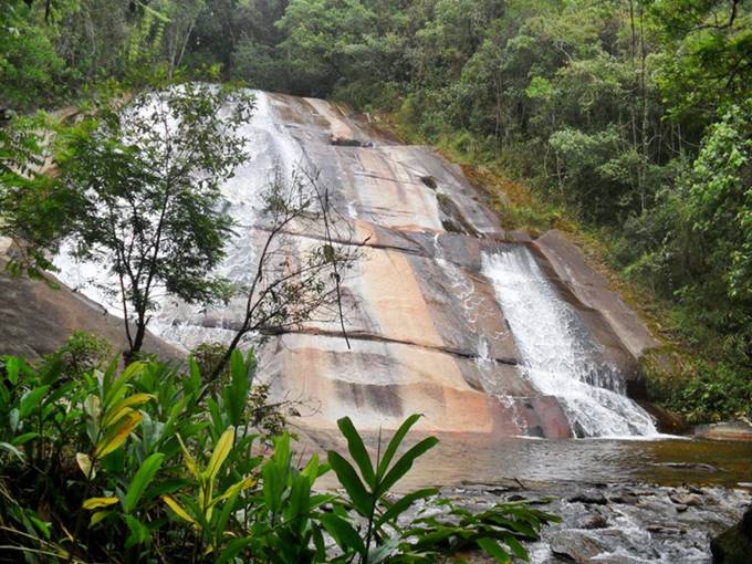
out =
[[[618,370],[524,246],[483,254],[483,272],[514,335],[526,377],[556,396],[578,437],[655,435],[652,418],[625,395]]]

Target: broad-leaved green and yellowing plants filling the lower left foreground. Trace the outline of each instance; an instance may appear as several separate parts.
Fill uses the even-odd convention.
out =
[[[556,519],[519,503],[471,513],[432,488],[389,494],[438,442],[403,448],[419,416],[375,461],[348,418],[353,462],[330,451],[301,467],[286,432],[264,448],[248,407],[252,353],[233,353],[201,400],[192,359],[186,373],[156,361],[118,373],[77,345],[38,366],[0,364],[0,544],[12,562],[435,562],[478,547],[508,562]],[[343,493],[315,490],[330,469]]]

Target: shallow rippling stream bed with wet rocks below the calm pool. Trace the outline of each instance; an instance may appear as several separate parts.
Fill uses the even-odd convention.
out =
[[[645,483],[566,482],[523,485],[473,485],[446,489],[445,493],[477,509],[525,500],[561,516],[561,523],[544,528],[540,542],[528,545],[531,562],[536,564],[710,563],[711,539],[737,523],[752,502],[746,490],[716,487],[690,490]],[[689,497],[696,503],[680,510],[675,499]],[[752,512],[749,515],[752,524]],[[485,562],[482,557],[479,561]]]

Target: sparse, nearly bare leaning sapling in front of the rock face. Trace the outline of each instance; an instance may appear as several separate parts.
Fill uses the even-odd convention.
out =
[[[342,282],[367,241],[355,241],[352,224],[340,221],[328,188],[314,171],[297,170],[291,179],[278,174],[262,197],[264,213],[257,228],[264,237],[255,272],[240,289],[243,316],[210,380],[219,377],[247,335],[280,334],[314,320],[338,321],[349,347]]]

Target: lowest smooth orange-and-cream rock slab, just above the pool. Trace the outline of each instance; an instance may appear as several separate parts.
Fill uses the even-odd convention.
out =
[[[261,362],[272,390],[301,400],[297,425],[334,428],[345,415],[358,429],[395,429],[422,412],[426,431],[469,431],[490,436],[567,437],[566,417],[551,397],[495,397],[471,383],[493,377],[520,394],[530,387],[515,367],[495,363],[491,375],[462,356],[416,345],[315,334],[285,334],[264,348]]]

